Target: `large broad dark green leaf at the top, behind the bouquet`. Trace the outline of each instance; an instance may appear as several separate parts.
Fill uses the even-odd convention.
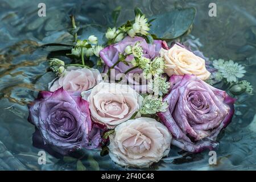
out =
[[[196,9],[174,9],[170,13],[154,16],[150,32],[161,39],[175,39],[183,35],[191,27],[195,19]]]

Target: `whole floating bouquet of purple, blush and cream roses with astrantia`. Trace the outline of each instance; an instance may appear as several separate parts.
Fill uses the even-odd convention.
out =
[[[67,56],[74,64],[49,60],[57,77],[28,104],[34,145],[51,154],[102,148],[121,166],[143,168],[167,156],[171,145],[213,150],[232,120],[233,97],[253,93],[241,80],[242,65],[210,62],[177,38],[158,38],[149,33],[155,19],[139,9],[134,20],[108,28],[102,45],[94,35],[77,39],[71,19],[75,44]],[[94,68],[90,59],[97,59]],[[226,92],[212,86],[220,82]]]

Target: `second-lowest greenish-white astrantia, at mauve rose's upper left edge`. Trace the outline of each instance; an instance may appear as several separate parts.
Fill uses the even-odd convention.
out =
[[[154,92],[155,95],[163,96],[163,94],[168,93],[170,88],[170,82],[166,82],[167,77],[154,76],[154,79],[150,80],[150,90]]]

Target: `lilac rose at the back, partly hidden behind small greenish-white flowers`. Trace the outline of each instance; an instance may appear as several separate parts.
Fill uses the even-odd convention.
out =
[[[140,42],[140,46],[143,49],[144,57],[147,57],[148,59],[154,59],[156,56],[159,56],[159,50],[160,48],[166,48],[168,49],[168,46],[166,42],[162,40],[154,40],[153,44],[148,44],[145,39],[135,36],[134,38],[131,38],[130,36],[127,36],[125,39],[123,39],[121,42],[110,45],[100,51],[100,57],[106,64],[108,68],[112,67],[114,63],[116,63],[119,59],[118,54],[125,53],[125,48],[127,46],[134,46],[135,43]],[[131,60],[133,60],[133,55],[129,55],[126,57],[126,61],[129,63],[129,65],[126,65],[124,63],[118,63],[114,69],[115,69],[115,75],[118,73],[124,73],[128,69],[132,68],[133,65],[130,63]],[[105,69],[107,71],[108,69]],[[142,73],[142,70],[137,68],[129,73]],[[134,89],[138,92],[146,92],[147,90],[147,84],[140,84],[138,80],[133,80],[132,77],[129,77],[129,75],[126,75],[126,80],[130,82],[132,85],[134,85]],[[123,80],[122,80],[123,81]]]

